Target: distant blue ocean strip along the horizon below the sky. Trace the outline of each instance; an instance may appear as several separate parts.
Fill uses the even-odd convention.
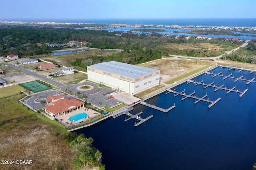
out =
[[[10,21],[10,19],[8,20]],[[12,21],[31,22],[62,22],[62,23],[98,23],[98,24],[143,24],[143,25],[193,25],[193,26],[227,26],[227,27],[256,27],[256,18],[170,18],[170,19],[12,19]]]

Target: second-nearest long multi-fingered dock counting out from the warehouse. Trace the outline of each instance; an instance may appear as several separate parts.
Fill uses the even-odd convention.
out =
[[[215,86],[215,85],[212,85],[214,83],[205,84],[203,82],[196,82],[195,80],[187,80],[187,84],[189,84],[189,83],[194,83],[195,86],[200,84],[200,85],[204,86],[204,89],[208,88],[208,87],[215,88],[214,92],[216,92],[219,89],[222,89],[222,90],[227,90],[228,91],[228,92],[226,92],[226,94],[229,94],[230,92],[240,93],[239,97],[242,97],[248,91],[248,89],[244,90],[243,92],[238,91],[238,90],[234,90],[236,88],[236,86],[234,86],[233,88],[230,89],[230,88],[223,87],[224,84],[222,84],[221,86]]]

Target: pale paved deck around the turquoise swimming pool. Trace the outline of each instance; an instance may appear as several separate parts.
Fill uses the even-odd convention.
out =
[[[85,110],[85,109],[86,109],[86,110]],[[64,115],[64,114],[61,114],[60,116],[57,116],[56,119],[58,119],[59,121],[61,121],[61,122],[63,122],[63,123],[66,123],[66,122],[71,123],[71,121],[68,120],[68,118],[71,117],[72,115],[76,115],[76,114],[78,114],[78,113],[86,113],[86,114],[88,114],[88,116],[93,117],[93,116],[96,115],[96,114],[94,114],[94,113],[98,113],[98,112],[97,112],[97,111],[94,111],[94,110],[92,110],[92,109],[88,109],[88,110],[87,110],[86,107],[82,107],[82,108],[80,108],[80,109],[78,109],[78,110],[72,111],[72,112],[70,112],[70,113],[66,113],[65,115]],[[100,115],[100,113],[98,113],[98,115]],[[73,123],[79,123],[79,122],[84,121],[84,120],[85,120],[85,119],[81,119],[81,120],[78,120],[78,121],[73,121]]]

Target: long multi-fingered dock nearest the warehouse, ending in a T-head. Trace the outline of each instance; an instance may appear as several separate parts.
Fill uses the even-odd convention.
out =
[[[220,101],[220,98],[218,98],[218,99],[215,100],[215,101],[211,101],[211,100],[209,100],[209,99],[207,99],[207,100],[204,99],[204,98],[207,97],[207,94],[206,94],[205,96],[203,96],[202,98],[198,98],[198,97],[194,96],[195,92],[193,92],[192,94],[185,94],[185,91],[176,92],[175,90],[176,90],[176,89],[174,89],[174,90],[167,89],[166,91],[173,93],[173,94],[174,94],[174,97],[176,97],[176,96],[178,96],[178,95],[185,96],[185,98],[182,98],[182,100],[185,100],[186,98],[193,98],[193,99],[196,99],[197,101],[194,102],[194,104],[197,104],[197,103],[200,102],[200,101],[208,102],[208,103],[210,103],[209,106],[208,106],[208,108],[211,108],[212,106],[214,106],[214,104],[216,104],[218,101]]]

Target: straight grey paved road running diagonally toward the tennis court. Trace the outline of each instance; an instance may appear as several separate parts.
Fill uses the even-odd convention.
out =
[[[17,70],[22,71],[24,74],[31,74],[32,76],[38,77],[38,78],[40,78],[40,79],[42,79],[42,80],[45,80],[45,81],[50,82],[50,83],[52,83],[52,84],[55,84],[56,86],[60,86],[60,87],[66,86],[66,84],[62,84],[62,83],[60,83],[60,82],[57,82],[57,81],[55,81],[55,80],[52,80],[52,79],[50,79],[50,78],[47,78],[47,77],[42,76],[42,75],[40,75],[40,74],[37,74],[37,73],[35,73],[35,72],[32,72],[32,71],[30,71],[30,70],[21,68],[21,67],[19,67],[19,66],[14,65],[14,64],[10,64],[10,63],[0,63],[0,64],[5,64],[5,65],[8,65],[8,66],[11,66],[11,67],[13,67],[13,68],[16,68]],[[13,76],[13,75],[12,75],[12,76]]]

